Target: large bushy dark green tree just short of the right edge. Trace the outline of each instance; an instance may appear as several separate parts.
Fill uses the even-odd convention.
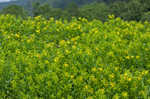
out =
[[[131,0],[129,2],[114,2],[110,6],[110,11],[117,17],[124,20],[137,20],[141,19],[144,8],[139,0]]]

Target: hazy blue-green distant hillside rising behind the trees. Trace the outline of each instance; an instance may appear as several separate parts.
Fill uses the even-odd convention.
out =
[[[84,5],[84,4],[89,4],[92,2],[112,3],[115,1],[128,1],[128,0],[14,0],[14,1],[12,0],[11,2],[0,3],[0,9],[10,4],[17,4],[25,8],[29,8],[30,7],[29,5],[31,5],[33,2],[48,3],[53,7],[64,8],[69,3],[76,3],[77,5]]]

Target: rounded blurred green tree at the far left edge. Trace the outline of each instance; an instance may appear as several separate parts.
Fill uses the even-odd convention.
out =
[[[17,17],[20,16],[23,18],[27,17],[27,11],[25,11],[24,8],[19,5],[9,5],[5,8],[3,8],[0,13],[1,14],[12,14]]]

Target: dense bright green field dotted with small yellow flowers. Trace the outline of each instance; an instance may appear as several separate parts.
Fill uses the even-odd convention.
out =
[[[0,16],[0,99],[150,99],[150,24]]]

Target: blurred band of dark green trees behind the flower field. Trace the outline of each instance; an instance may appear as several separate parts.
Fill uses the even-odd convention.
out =
[[[44,1],[44,0],[43,0]],[[43,16],[47,19],[67,19],[85,17],[88,20],[107,20],[107,16],[114,14],[124,20],[150,21],[150,0],[55,0],[57,5],[48,2],[35,1],[27,8],[20,5],[9,5],[0,14],[13,14],[17,17]]]

